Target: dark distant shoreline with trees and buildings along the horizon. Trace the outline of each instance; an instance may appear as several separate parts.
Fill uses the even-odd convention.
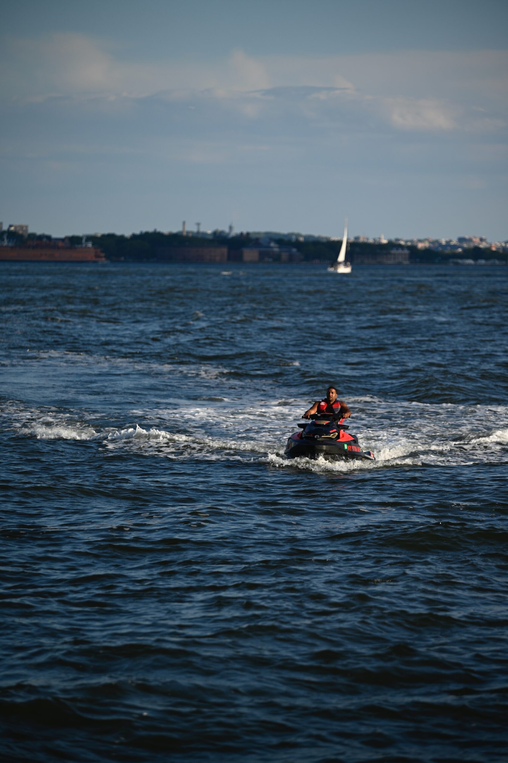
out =
[[[11,238],[7,238],[11,237]],[[300,240],[294,238],[255,237],[240,233],[227,237],[210,238],[162,233],[157,230],[132,233],[130,236],[116,233],[68,236],[53,239],[43,234],[5,233],[5,245],[0,246],[0,260],[11,259],[9,250],[16,251],[12,259],[21,261],[24,252],[27,260],[43,259],[106,259],[108,262],[216,262],[230,264],[315,264],[332,265],[341,250],[341,240]],[[44,253],[44,257],[41,256]],[[46,256],[47,255],[47,256]],[[475,242],[435,242],[429,246],[421,243],[403,243],[397,240],[358,241],[348,240],[346,261],[353,267],[364,265],[438,265],[481,264],[485,262],[508,263],[508,243],[489,244]],[[460,262],[459,262],[460,261]]]

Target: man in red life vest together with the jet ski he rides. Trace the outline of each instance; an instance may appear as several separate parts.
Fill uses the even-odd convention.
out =
[[[307,459],[327,461],[344,461],[345,459],[361,459],[374,461],[371,450],[362,451],[358,437],[348,434],[342,423],[351,416],[348,406],[337,399],[335,387],[328,387],[326,398],[316,401],[303,414],[310,423],[301,423],[299,432],[293,433],[287,441],[285,455],[289,459],[303,456]]]

